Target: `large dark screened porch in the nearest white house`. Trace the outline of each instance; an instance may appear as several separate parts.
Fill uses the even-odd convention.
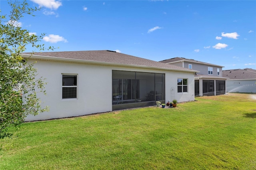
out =
[[[112,71],[112,109],[128,109],[165,102],[164,73]]]

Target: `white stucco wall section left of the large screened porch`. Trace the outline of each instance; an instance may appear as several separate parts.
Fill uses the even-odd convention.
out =
[[[30,60],[31,61],[31,60]],[[46,95],[39,93],[49,112],[28,116],[26,121],[73,117],[111,111],[112,70],[106,66],[38,60],[38,76],[46,78]],[[77,74],[77,99],[62,99],[62,73]]]

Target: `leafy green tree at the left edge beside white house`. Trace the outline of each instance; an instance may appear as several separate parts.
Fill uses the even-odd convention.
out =
[[[12,9],[8,19],[6,15],[0,16],[0,138],[10,137],[10,128],[18,127],[27,115],[47,110],[40,106],[36,96],[38,92],[45,93],[44,79],[37,77],[34,63],[29,64],[20,56],[27,45],[44,50],[44,45],[36,43],[45,34],[30,35],[17,25],[24,14],[32,15],[40,9],[30,8],[26,0],[8,3]]]

